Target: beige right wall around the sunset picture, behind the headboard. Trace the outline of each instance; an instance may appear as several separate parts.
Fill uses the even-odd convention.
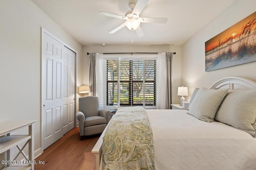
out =
[[[221,4],[220,4],[221,5]],[[182,83],[188,99],[194,88],[210,86],[224,77],[244,77],[256,81],[256,62],[205,72],[204,43],[256,11],[255,0],[236,0],[202,30],[182,45]],[[196,24],[196,23],[195,23]]]

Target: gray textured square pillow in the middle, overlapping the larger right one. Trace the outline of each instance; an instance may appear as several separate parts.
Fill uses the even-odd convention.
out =
[[[228,89],[207,89],[198,90],[189,107],[188,114],[206,122],[214,121],[216,112],[225,98]]]

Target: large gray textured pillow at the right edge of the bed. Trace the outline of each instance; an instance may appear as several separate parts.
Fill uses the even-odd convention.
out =
[[[228,92],[215,120],[256,137],[256,90]]]

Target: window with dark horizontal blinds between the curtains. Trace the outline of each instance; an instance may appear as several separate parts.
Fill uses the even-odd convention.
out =
[[[156,106],[156,58],[105,59],[103,74],[106,106]]]

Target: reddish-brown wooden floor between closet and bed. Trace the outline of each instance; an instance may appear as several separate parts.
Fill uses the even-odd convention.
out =
[[[35,160],[35,170],[94,170],[95,156],[92,148],[100,135],[84,137],[80,141],[79,129],[74,128],[56,143],[44,150]],[[45,164],[38,164],[38,161]]]

